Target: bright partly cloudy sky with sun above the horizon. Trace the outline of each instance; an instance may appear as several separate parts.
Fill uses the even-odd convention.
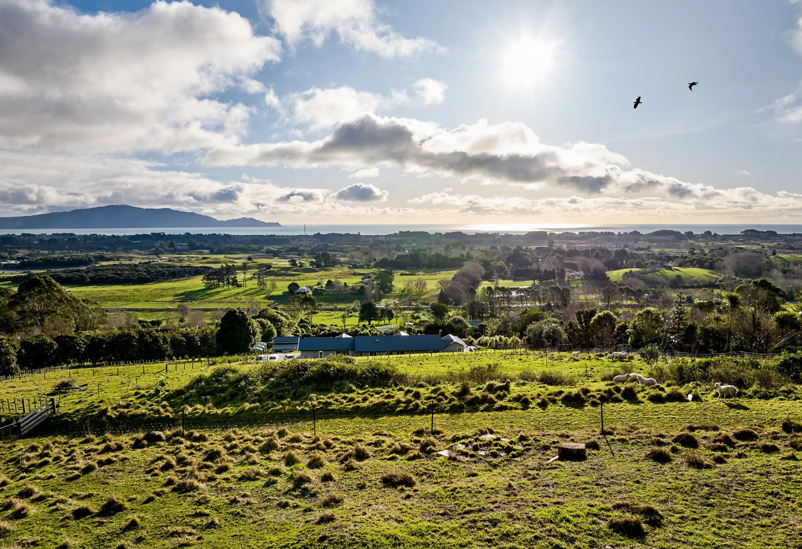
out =
[[[802,223],[800,174],[800,0],[0,0],[0,215]]]

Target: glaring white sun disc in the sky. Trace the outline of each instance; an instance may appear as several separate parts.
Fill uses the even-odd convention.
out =
[[[559,42],[537,39],[520,39],[509,44],[500,58],[501,79],[512,88],[532,88],[545,82],[559,46]]]

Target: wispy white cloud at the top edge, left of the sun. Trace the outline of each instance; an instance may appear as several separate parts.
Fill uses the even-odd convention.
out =
[[[383,57],[408,57],[427,51],[442,51],[424,38],[407,39],[376,17],[373,0],[267,0],[273,32],[291,47],[304,40],[315,46],[332,33],[356,51],[371,51]]]

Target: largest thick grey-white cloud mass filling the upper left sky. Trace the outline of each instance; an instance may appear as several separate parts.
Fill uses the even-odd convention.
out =
[[[81,153],[236,143],[249,109],[213,97],[264,91],[251,76],[281,43],[246,18],[190,2],[79,14],[0,1],[0,146]]]

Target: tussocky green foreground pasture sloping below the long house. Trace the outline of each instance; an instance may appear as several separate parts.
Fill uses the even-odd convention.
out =
[[[212,368],[86,368],[0,382],[5,398],[47,392],[67,375],[84,387],[62,397],[56,432],[0,442],[0,543],[799,547],[798,397],[746,391],[719,401],[697,387],[694,402],[658,403],[654,389],[635,384],[604,405],[605,439],[594,396],[624,392],[599,380],[615,364],[597,356],[587,359],[588,380],[585,357],[565,354],[548,368],[545,356],[519,352],[392,360],[420,381],[318,391],[317,437],[306,392],[259,405],[237,404],[243,396],[229,390],[188,401],[187,430],[144,439],[149,421],[180,425],[184,387],[199,375],[207,377],[195,386],[211,381]],[[488,365],[495,380],[467,389],[442,377]],[[537,381],[546,372],[574,375],[555,386]],[[234,383],[227,375],[217,383]],[[478,408],[460,405],[479,397]],[[144,430],[107,433],[114,418]],[[561,441],[588,443],[587,458],[549,462]]]

